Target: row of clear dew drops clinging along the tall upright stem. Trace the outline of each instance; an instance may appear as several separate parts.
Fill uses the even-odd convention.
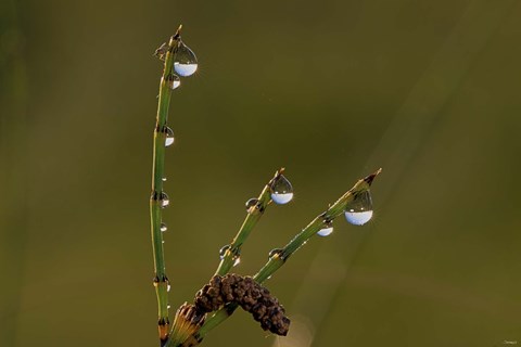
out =
[[[166,43],[162,46],[161,49],[165,48]],[[177,89],[181,85],[180,77],[189,77],[193,75],[198,70],[198,59],[193,51],[185,44],[185,42],[179,41],[176,54],[174,56],[174,70],[176,74],[171,74],[167,77],[168,87],[170,89]],[[179,77],[180,76],[180,77]],[[166,127],[165,130],[165,147],[168,147],[174,144],[174,130],[171,128]],[[163,182],[166,181],[166,177],[162,179]],[[170,204],[169,197],[165,192],[161,193],[160,196],[161,207],[165,208]],[[160,230],[161,232],[167,231],[167,226],[162,222]],[[164,241],[163,241],[164,243]]]

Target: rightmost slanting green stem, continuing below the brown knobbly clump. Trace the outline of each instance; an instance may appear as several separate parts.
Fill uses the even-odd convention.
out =
[[[355,196],[364,191],[369,190],[372,180],[381,172],[382,169],[374,174],[358,180],[355,185],[342,195],[328,210],[317,216],[306,228],[304,228],[295,237],[293,237],[283,248],[275,252],[269,258],[268,262],[254,275],[254,280],[258,283],[271,278],[271,275],[282,267],[288,258],[298,250],[306,242],[313,237],[320,229],[328,226],[333,219],[342,215],[346,205],[352,202]],[[230,303],[220,310],[216,311],[212,317],[208,317],[203,326],[195,335],[195,339],[201,340],[206,334],[224,322],[237,309],[238,305]]]

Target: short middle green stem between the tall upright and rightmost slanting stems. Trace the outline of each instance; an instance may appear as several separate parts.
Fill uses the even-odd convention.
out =
[[[246,218],[244,219],[244,222],[241,226],[241,229],[237,233],[236,237],[229,245],[228,249],[225,252],[223,255],[223,259],[219,262],[219,266],[217,267],[217,270],[215,271],[215,274],[218,275],[225,275],[227,274],[230,269],[233,267],[234,262],[239,259],[241,256],[241,247],[246,241],[247,236],[252,232],[253,228],[256,226],[260,217],[264,215],[264,211],[268,207],[268,205],[271,203],[271,194],[270,194],[270,188],[275,180],[279,178],[280,175],[284,171],[283,168],[278,170],[275,174],[275,177],[264,187],[263,191],[257,197],[257,204],[254,206],[251,206],[247,209],[247,215]]]

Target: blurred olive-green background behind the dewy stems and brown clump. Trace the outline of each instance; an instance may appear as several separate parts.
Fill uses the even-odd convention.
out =
[[[237,272],[254,273],[379,167],[373,221],[335,222],[267,283],[275,338],[237,312],[205,346],[521,343],[521,3],[514,0],[0,3],[0,346],[155,346],[149,194],[161,62],[173,97],[164,219],[191,300],[281,166]]]

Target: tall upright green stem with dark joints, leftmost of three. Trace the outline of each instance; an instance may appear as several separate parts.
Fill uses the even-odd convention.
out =
[[[165,272],[165,257],[163,252],[162,204],[163,204],[163,177],[165,168],[165,139],[170,104],[171,89],[168,80],[173,76],[174,57],[180,42],[180,29],[170,38],[168,50],[165,54],[165,65],[160,82],[160,98],[157,102],[157,117],[154,129],[154,152],[152,163],[152,194],[150,198],[150,220],[152,234],[152,250],[154,254],[154,286],[158,307],[158,333],[162,345],[168,336],[168,278]]]

